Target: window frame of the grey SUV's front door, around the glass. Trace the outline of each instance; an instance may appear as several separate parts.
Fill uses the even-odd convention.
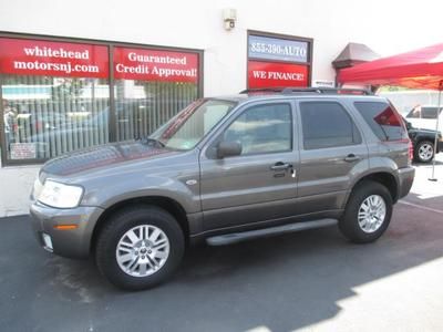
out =
[[[206,151],[203,152],[203,155],[206,156],[208,159],[217,159],[215,149],[216,146],[223,141],[223,136],[225,135],[225,132],[230,127],[230,125],[236,122],[245,112],[257,107],[257,106],[268,106],[268,105],[288,105],[289,106],[289,116],[290,116],[290,148],[289,149],[284,149],[284,151],[276,151],[276,152],[262,152],[262,153],[250,153],[246,155],[238,155],[238,156],[228,156],[226,158],[238,158],[238,157],[250,157],[250,156],[259,156],[259,155],[270,155],[270,154],[281,154],[281,153],[292,153],[293,148],[297,146],[297,143],[295,142],[295,108],[293,108],[293,103],[290,100],[274,100],[274,101],[266,101],[266,102],[258,102],[254,104],[246,104],[244,107],[241,107],[240,111],[238,112],[233,112],[231,118],[227,120],[227,122],[224,123],[223,127],[217,131],[217,134],[215,135],[215,138],[212,139],[207,144]]]

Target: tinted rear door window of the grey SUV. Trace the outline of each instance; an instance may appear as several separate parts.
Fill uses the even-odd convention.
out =
[[[361,143],[354,123],[337,102],[302,102],[300,114],[305,149]]]

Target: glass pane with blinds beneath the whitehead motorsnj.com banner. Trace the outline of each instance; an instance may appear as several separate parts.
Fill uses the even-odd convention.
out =
[[[47,159],[109,141],[106,80],[2,76],[9,159]]]

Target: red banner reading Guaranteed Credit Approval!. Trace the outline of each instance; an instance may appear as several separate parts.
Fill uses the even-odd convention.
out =
[[[114,48],[114,77],[197,83],[198,54]]]

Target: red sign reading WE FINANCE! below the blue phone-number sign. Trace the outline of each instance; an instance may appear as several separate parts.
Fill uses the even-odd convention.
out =
[[[248,89],[308,86],[308,66],[248,61]]]

